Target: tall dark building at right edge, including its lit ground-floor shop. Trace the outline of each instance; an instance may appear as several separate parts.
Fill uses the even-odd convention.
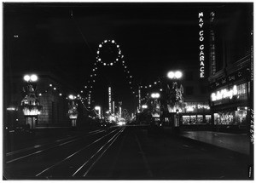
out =
[[[209,15],[212,123],[246,132],[253,108],[253,3],[225,4]]]

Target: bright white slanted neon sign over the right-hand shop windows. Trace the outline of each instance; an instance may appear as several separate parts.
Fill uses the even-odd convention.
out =
[[[216,101],[216,100],[222,100],[225,98],[230,98],[232,99],[234,95],[237,94],[237,87],[236,85],[233,86],[233,89],[221,89],[215,93],[212,93],[211,98],[212,101]]]

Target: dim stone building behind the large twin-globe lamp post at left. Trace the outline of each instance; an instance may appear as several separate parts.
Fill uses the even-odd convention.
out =
[[[21,101],[26,97],[23,92],[26,87],[23,77],[23,73],[7,76],[8,82],[4,85],[4,125],[11,129],[27,125],[21,109]],[[38,115],[33,117],[35,127],[69,127],[67,95],[74,94],[73,89],[50,72],[38,73],[34,89],[39,105],[42,106]]]

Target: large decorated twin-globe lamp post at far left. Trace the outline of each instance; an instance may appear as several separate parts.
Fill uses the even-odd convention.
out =
[[[36,74],[25,75],[23,79],[26,82],[26,85],[22,89],[24,98],[21,100],[20,109],[23,112],[24,117],[26,117],[26,125],[29,126],[29,129],[35,129],[38,115],[41,114],[43,110],[43,106],[40,106],[38,100],[36,83],[38,81],[38,76]]]

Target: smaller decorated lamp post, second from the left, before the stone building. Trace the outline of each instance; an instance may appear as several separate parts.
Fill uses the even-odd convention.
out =
[[[77,97],[73,94],[70,94],[68,96],[68,112],[67,115],[71,119],[71,126],[76,127],[77,126],[77,118],[79,116],[78,112],[78,103],[76,102]]]

